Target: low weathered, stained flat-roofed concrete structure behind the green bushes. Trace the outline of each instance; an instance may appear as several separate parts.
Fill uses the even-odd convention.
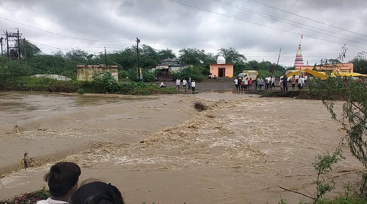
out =
[[[117,65],[77,65],[76,66],[76,80],[86,81],[90,80],[93,74],[101,72],[110,72],[116,81],[119,80],[117,73]]]

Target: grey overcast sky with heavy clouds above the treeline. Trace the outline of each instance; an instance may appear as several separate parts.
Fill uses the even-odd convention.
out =
[[[238,19],[168,0],[18,0],[16,2],[0,0],[0,17],[77,38],[113,41],[139,37],[142,44],[148,44],[156,49],[168,47],[176,54],[182,47],[197,47],[216,54],[221,47],[231,46],[238,49],[249,60],[261,61],[264,58],[264,60],[276,62],[279,48],[282,47],[280,63],[284,65],[294,63],[300,40],[299,34],[305,35],[301,42],[305,65],[307,60],[309,65],[313,65],[315,62],[320,62],[320,58],[336,58],[344,43],[350,44],[347,45],[349,50],[346,60],[351,59],[357,52],[367,51],[366,0],[257,0],[257,2],[260,1],[344,30],[262,6],[255,3],[255,0],[221,0],[243,7],[241,8],[243,10],[248,8],[253,10],[251,12],[262,12],[261,15],[272,15],[278,17],[280,21],[320,33],[252,14],[239,7],[234,8],[218,3],[216,0],[174,1]],[[124,48],[135,43],[134,40],[98,42],[72,39],[0,18],[0,29],[2,28],[19,28],[26,39],[36,43],[64,49],[80,47],[90,52],[103,49],[95,47]],[[54,50],[44,45],[39,45],[44,53]],[[111,50],[113,49],[108,48],[108,51]]]

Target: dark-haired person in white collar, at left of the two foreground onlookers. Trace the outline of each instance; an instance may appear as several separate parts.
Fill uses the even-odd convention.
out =
[[[70,196],[78,187],[80,167],[72,162],[59,162],[52,165],[50,172],[44,175],[51,197],[37,204],[68,204]]]

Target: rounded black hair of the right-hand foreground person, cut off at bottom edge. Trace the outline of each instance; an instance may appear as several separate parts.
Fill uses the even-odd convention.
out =
[[[119,189],[101,181],[80,186],[70,197],[69,204],[124,204]]]

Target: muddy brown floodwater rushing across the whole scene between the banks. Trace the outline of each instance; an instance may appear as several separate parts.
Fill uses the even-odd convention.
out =
[[[314,192],[311,163],[345,134],[321,101],[204,93],[196,99],[209,109],[197,112],[192,99],[0,93],[0,199],[45,185],[64,160],[80,165],[80,181],[116,185],[126,203],[298,203],[276,185]],[[328,196],[361,168],[344,156],[327,174],[337,183]]]

